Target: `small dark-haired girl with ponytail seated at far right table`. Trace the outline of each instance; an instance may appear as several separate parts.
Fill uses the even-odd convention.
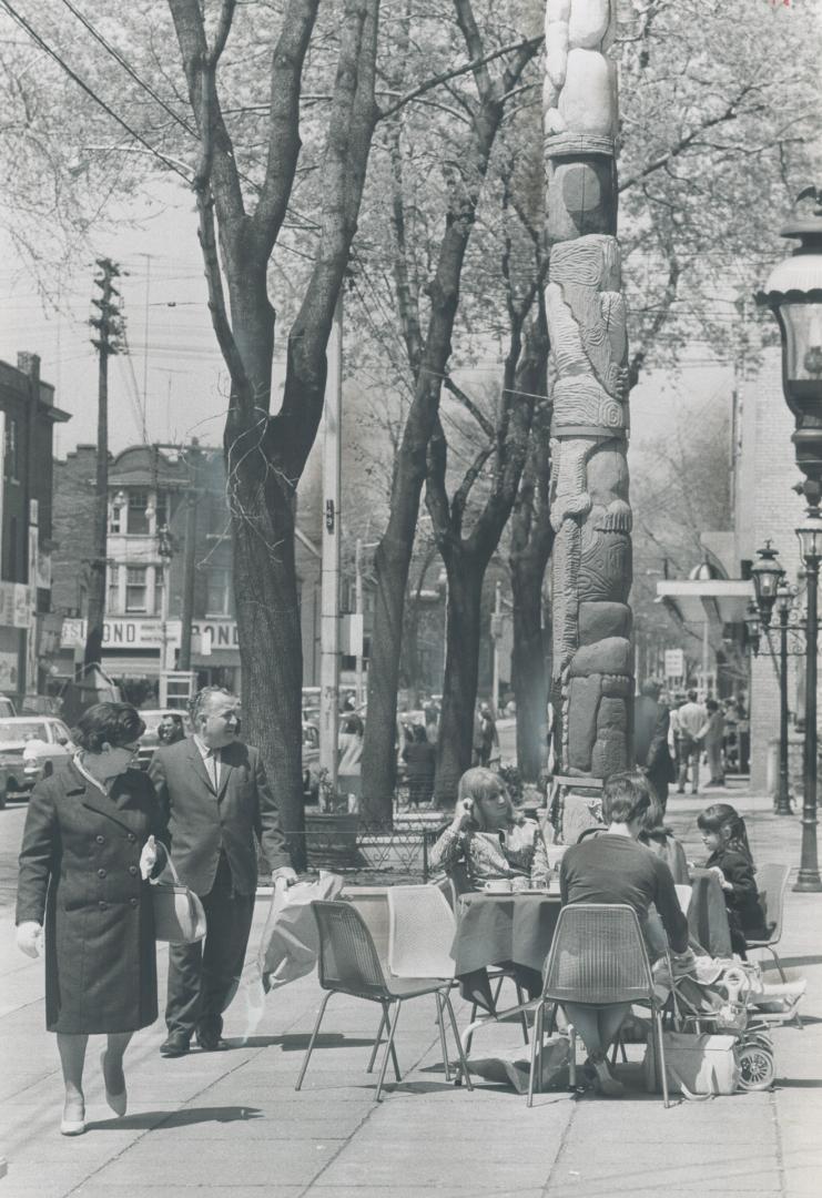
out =
[[[702,811],[696,823],[711,853],[705,867],[717,875],[725,894],[731,948],[745,958],[745,934],[754,939],[767,934],[745,821],[730,803],[715,803]]]

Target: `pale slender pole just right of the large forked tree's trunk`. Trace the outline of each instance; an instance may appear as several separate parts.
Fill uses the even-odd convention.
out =
[[[343,415],[343,292],[334,309],[322,435],[322,568],[320,589],[320,769],[337,793],[339,739],[339,508]]]

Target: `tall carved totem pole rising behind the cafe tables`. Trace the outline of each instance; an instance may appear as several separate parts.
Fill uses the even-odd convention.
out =
[[[567,840],[579,819],[572,795],[587,795],[594,810],[600,780],[630,757],[628,345],[616,240],[617,72],[606,53],[616,4],[548,0],[545,17],[552,696]]]

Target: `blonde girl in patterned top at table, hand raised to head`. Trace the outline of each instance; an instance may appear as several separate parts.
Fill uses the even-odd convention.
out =
[[[435,870],[449,873],[460,864],[472,890],[500,879],[548,888],[551,867],[539,824],[514,810],[502,779],[483,766],[463,774],[454,819],[431,849]]]

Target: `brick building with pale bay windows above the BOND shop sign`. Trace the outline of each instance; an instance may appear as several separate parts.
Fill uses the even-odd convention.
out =
[[[66,617],[60,674],[83,658],[96,448],[78,446],[54,466],[54,604]],[[192,668],[198,685],[238,690],[240,651],[234,606],[231,538],[222,449],[198,444],[133,446],[109,464],[109,524],[103,668],[133,702],[158,697],[161,672],[175,670],[182,634],[187,509],[195,509]],[[169,537],[161,537],[168,530]],[[170,557],[161,552],[171,549]],[[297,537],[303,640],[312,643],[319,559]],[[316,565],[314,564],[316,563]],[[306,627],[308,625],[308,627]]]

